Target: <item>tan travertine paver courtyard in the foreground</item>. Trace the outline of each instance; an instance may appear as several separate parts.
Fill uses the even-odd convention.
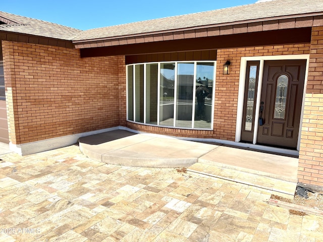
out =
[[[323,241],[323,217],[234,181],[105,164],[78,146],[0,159],[0,241]]]

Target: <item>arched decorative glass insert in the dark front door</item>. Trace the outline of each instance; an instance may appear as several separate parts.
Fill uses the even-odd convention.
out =
[[[285,119],[288,76],[281,75],[277,80],[274,118]]]

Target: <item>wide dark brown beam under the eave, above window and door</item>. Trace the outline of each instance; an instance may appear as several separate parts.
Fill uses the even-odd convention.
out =
[[[147,53],[211,50],[263,45],[310,43],[310,41],[311,28],[307,27],[128,45],[81,48],[80,54],[81,57],[136,55]]]

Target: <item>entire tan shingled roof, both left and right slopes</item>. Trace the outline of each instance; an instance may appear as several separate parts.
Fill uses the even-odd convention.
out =
[[[323,15],[323,0],[272,0],[196,14],[147,20],[86,31],[0,11],[0,31],[83,41],[167,33],[212,26]]]

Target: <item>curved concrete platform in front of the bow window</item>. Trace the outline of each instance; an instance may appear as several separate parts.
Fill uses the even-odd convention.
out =
[[[218,147],[123,130],[83,137],[79,144],[82,153],[91,159],[140,167],[188,167]]]

